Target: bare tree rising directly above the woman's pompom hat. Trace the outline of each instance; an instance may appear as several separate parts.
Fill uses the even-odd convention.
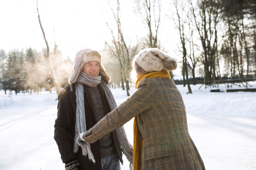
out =
[[[148,47],[159,48],[158,40],[161,4],[160,0],[135,0],[137,11],[148,30]]]

